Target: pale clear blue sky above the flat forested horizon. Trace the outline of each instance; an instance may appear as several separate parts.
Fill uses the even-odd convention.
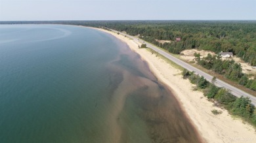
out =
[[[0,0],[9,20],[256,20],[256,0]]]

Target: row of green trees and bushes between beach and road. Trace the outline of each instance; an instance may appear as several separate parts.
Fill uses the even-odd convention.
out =
[[[230,114],[239,116],[245,121],[256,126],[255,106],[251,104],[248,97],[235,97],[230,91],[207,82],[202,76],[198,76],[186,69],[182,72],[184,79],[188,78],[192,84],[196,84],[198,88],[203,89],[203,95],[215,102],[217,106],[223,106]]]

